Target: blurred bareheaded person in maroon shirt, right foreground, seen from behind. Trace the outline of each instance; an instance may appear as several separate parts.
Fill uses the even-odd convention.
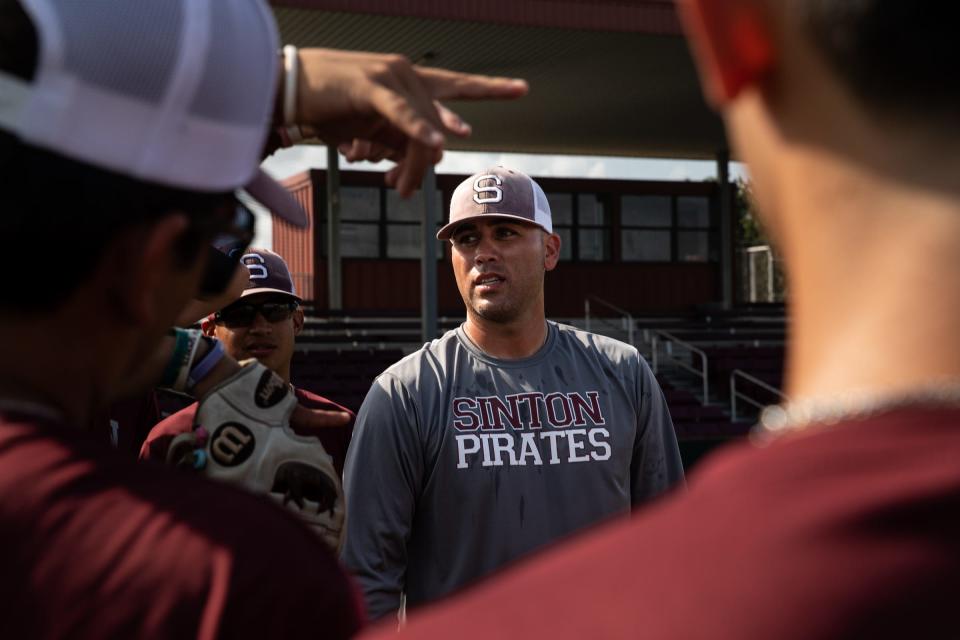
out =
[[[687,0],[708,97],[787,263],[790,402],[690,491],[414,637],[960,636],[954,6]],[[544,602],[547,601],[547,602]]]

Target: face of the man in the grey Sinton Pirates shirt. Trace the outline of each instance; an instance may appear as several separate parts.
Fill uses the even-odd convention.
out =
[[[543,274],[556,266],[560,238],[509,218],[460,225],[450,238],[453,273],[467,313],[508,323],[543,304]]]

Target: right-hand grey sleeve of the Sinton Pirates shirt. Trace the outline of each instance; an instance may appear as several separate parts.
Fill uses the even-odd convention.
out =
[[[683,463],[667,400],[646,361],[637,355],[637,438],[630,464],[630,498],[646,502],[676,484],[683,485]]]

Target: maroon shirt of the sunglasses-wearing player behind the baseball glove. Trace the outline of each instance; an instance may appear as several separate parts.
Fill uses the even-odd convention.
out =
[[[294,389],[297,401],[308,409],[324,409],[326,411],[345,411],[351,416],[350,423],[343,427],[330,427],[316,432],[317,438],[323,444],[330,457],[333,458],[333,466],[337,473],[343,475],[343,462],[347,457],[347,446],[350,444],[350,436],[353,434],[353,412],[332,400],[327,400],[322,396],[311,393],[305,389]],[[167,458],[167,449],[170,442],[181,433],[190,433],[193,429],[193,418],[197,415],[197,403],[193,403],[185,409],[169,416],[157,423],[150,430],[147,439],[140,448],[140,458],[144,460],[158,460],[163,462]]]

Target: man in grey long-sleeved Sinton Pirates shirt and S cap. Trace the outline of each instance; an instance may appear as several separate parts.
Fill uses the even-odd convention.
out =
[[[632,345],[548,322],[550,206],[504,167],[454,191],[463,326],[387,369],[347,460],[343,560],[372,617],[462,588],[683,482],[673,423]]]

